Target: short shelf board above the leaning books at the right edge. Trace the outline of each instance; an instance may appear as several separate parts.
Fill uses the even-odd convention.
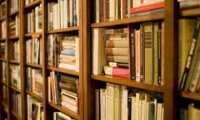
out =
[[[190,9],[183,9],[180,10],[179,15],[181,17],[190,17],[190,16],[199,16],[200,15],[200,8],[190,8]]]

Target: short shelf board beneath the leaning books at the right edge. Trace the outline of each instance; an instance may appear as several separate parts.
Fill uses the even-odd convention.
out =
[[[181,97],[200,101],[200,93],[181,92]]]

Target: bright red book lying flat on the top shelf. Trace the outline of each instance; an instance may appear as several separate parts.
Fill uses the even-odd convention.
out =
[[[161,9],[161,8],[164,8],[164,6],[165,6],[165,2],[154,3],[154,4],[145,5],[141,7],[131,8],[130,13],[138,13],[138,12],[144,12],[144,11],[149,11],[149,10]]]

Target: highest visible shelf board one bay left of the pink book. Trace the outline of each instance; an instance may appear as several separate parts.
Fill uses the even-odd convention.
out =
[[[69,27],[69,28],[58,29],[58,30],[50,30],[48,31],[48,34],[65,33],[65,32],[78,31],[78,30],[79,30],[79,27]]]

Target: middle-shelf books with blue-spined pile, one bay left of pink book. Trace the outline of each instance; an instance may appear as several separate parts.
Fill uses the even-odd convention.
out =
[[[79,71],[79,38],[68,35],[48,36],[48,65]]]

